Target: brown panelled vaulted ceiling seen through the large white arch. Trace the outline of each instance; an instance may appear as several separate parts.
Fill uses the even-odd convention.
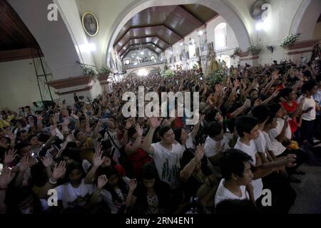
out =
[[[113,47],[121,58],[140,45],[159,54],[217,15],[198,4],[154,6],[133,16],[118,33]]]

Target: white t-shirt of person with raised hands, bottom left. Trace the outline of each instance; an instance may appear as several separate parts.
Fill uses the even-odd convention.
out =
[[[56,190],[57,199],[63,202],[63,208],[77,205],[83,207],[90,202],[95,186],[93,184],[86,185],[83,179],[81,180],[81,185],[77,188],[72,187],[71,183],[67,183],[59,185]]]

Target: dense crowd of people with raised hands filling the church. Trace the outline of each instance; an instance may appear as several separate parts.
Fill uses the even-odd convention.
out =
[[[0,212],[287,213],[300,165],[321,165],[320,62],[224,71],[216,83],[196,71],[131,76],[87,103],[2,110]],[[198,123],[124,118],[123,93],[138,86],[199,92]]]

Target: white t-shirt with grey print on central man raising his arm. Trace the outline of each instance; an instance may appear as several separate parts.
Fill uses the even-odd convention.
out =
[[[172,189],[179,187],[180,159],[183,156],[183,147],[179,143],[174,143],[172,150],[168,150],[161,145],[161,142],[152,143],[151,146],[155,151],[153,159],[160,179],[168,183]]]

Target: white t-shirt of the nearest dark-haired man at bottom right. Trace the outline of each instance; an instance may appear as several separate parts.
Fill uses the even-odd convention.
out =
[[[239,197],[238,195],[235,195],[233,192],[230,192],[225,186],[225,179],[220,180],[220,185],[218,185],[218,190],[215,194],[215,207],[219,202],[222,202],[225,199],[247,199],[248,198],[248,192],[246,192],[246,188],[244,185],[240,186],[240,190],[242,191],[242,196]]]

